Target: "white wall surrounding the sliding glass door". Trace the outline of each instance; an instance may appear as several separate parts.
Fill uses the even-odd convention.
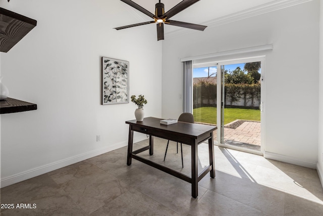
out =
[[[265,66],[265,153],[316,167],[318,142],[319,1],[208,27],[166,35],[163,43],[164,118],[182,112],[180,58],[273,44]],[[219,9],[221,10],[221,9]]]

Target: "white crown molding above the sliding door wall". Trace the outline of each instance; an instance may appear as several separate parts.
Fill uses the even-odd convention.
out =
[[[229,14],[227,16],[223,16],[223,17],[219,17],[213,20],[209,20],[203,23],[200,23],[201,25],[206,25],[207,28],[213,28],[213,27],[217,27],[220,25],[224,25],[227,23],[231,23],[231,22],[235,22],[238,20],[242,20],[242,19],[246,19],[249,17],[254,17],[254,16],[258,16],[261,14],[265,14],[265,13],[269,13],[272,11],[277,11],[280,9],[284,9],[284,8],[288,8],[288,7],[292,7],[295,5],[299,5],[299,4],[303,4],[306,2],[311,2],[313,0],[276,0],[270,3],[266,3],[260,6],[256,6],[253,8],[249,8],[234,14]],[[187,28],[182,28],[182,29],[178,29],[175,31],[171,31],[168,33],[165,33],[165,36],[167,36],[168,38],[180,35],[180,34],[186,34],[188,32],[192,32],[194,30],[192,29],[187,29]]]

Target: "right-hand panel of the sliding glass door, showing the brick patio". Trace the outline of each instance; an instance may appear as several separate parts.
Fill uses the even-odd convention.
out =
[[[261,151],[261,61],[221,65],[224,146]]]

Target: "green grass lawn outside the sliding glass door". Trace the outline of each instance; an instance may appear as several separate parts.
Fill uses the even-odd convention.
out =
[[[217,124],[216,107],[200,107],[193,109],[194,120],[210,124]],[[260,110],[225,108],[224,124],[230,123],[237,119],[260,121]]]

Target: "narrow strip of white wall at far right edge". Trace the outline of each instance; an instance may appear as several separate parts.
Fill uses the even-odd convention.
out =
[[[317,171],[323,186],[323,0],[319,16],[319,97],[318,97],[318,154]]]

